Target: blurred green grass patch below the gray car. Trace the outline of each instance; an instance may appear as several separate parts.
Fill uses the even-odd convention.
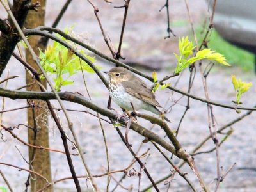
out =
[[[199,36],[200,31],[201,29],[196,29],[197,36]],[[204,34],[200,36],[204,36]],[[216,30],[212,31],[207,45],[212,50],[216,50],[216,52],[225,55],[225,58],[227,58],[228,63],[231,65],[237,65],[245,71],[253,70],[254,55],[251,52],[244,51],[243,49],[228,43],[218,35]]]

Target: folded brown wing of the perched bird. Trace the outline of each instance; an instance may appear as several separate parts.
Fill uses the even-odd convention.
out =
[[[156,101],[154,93],[150,91],[147,84],[140,78],[134,76],[130,81],[122,82],[124,89],[130,95],[142,99],[144,102],[151,104],[152,106],[161,107]]]

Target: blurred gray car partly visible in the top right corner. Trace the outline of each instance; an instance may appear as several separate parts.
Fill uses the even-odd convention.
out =
[[[214,27],[228,42],[256,54],[255,0],[217,1]]]

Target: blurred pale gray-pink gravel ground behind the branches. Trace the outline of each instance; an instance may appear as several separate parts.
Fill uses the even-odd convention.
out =
[[[49,1],[47,4],[47,25],[51,25],[52,18],[56,17],[58,10],[60,10],[60,4],[65,1]],[[115,5],[120,5],[123,1],[114,1]],[[150,3],[148,3],[150,2]],[[58,3],[58,4],[57,4]],[[104,29],[107,31],[108,35],[111,37],[111,41],[114,46],[117,45],[123,10],[115,9],[113,11],[113,6],[104,3],[104,1],[95,1],[99,5],[99,16],[102,20]],[[143,8],[147,4],[147,9]],[[127,18],[127,26],[124,38],[124,49],[123,56],[127,57],[127,60],[140,60],[140,61],[152,61],[161,65],[162,70],[157,72],[159,79],[172,72],[175,63],[173,57],[173,52],[177,52],[177,38],[171,38],[164,40],[163,37],[166,36],[166,13],[165,10],[158,12],[164,1],[131,1],[131,7],[129,8],[129,15]],[[207,11],[207,5],[204,1],[196,0],[189,4],[191,15],[193,20],[199,21]],[[206,10],[206,11],[205,11]],[[0,11],[2,11],[0,9]],[[73,12],[72,12],[73,11]],[[83,14],[81,14],[81,12]],[[111,14],[109,14],[111,13]],[[0,12],[1,18],[3,18],[3,12]],[[170,17],[173,22],[187,22],[188,17],[186,15],[186,7],[183,1],[171,1],[170,4]],[[60,22],[60,28],[64,28],[67,24],[71,25],[76,22],[76,28],[74,29],[78,33],[83,33],[89,40],[89,42],[102,52],[109,55],[108,48],[103,42],[102,35],[100,33],[99,27],[97,26],[95,16],[93,15],[93,9],[87,1],[74,1],[68,8],[67,14]],[[173,31],[177,36],[182,36],[188,31],[188,25],[173,26]],[[109,63],[104,63],[102,61],[97,61],[97,64],[101,65],[104,70],[111,68]],[[149,63],[151,65],[151,63]],[[10,75],[19,74],[19,81],[11,80],[8,83],[8,88],[14,89],[24,84],[24,71],[20,70],[20,64],[15,60],[11,60],[8,64],[3,77],[10,70]],[[150,71],[146,71],[150,74]],[[232,104],[231,100],[234,100],[234,91],[232,88],[232,83],[230,81],[230,74],[236,74],[237,77],[241,77],[244,81],[252,81],[253,87],[246,93],[242,99],[244,106],[254,106],[255,104],[255,76],[253,73],[241,72],[238,68],[228,68],[216,67],[212,70],[210,76],[207,79],[207,84],[209,86],[209,95],[211,100],[216,100],[224,104]],[[182,78],[177,85],[177,88],[186,91],[188,86],[188,72],[182,74]],[[2,78],[3,78],[2,77]],[[172,80],[175,82],[177,78]],[[69,92],[79,92],[86,95],[84,90],[83,80],[81,74],[77,74],[74,77],[75,84],[72,86],[67,86],[63,88],[63,91]],[[102,86],[100,80],[92,74],[86,75],[86,83],[88,84],[88,90],[92,96],[93,102],[96,102],[102,107],[105,107],[108,102],[108,90]],[[150,84],[147,81],[148,84]],[[195,83],[193,84],[193,89],[191,93],[204,97],[204,90],[202,87],[202,81],[200,73],[196,72]],[[178,93],[172,93],[169,90],[161,90],[156,93],[156,98],[164,106],[166,100],[170,99],[171,102],[167,104],[166,107],[170,106],[172,102],[180,98]],[[56,102],[52,102],[55,106],[58,106]],[[68,109],[85,109],[83,106],[77,104],[72,104],[65,102]],[[175,129],[179,124],[179,120],[185,110],[184,105],[186,104],[186,98],[179,100],[178,104],[173,106],[172,111],[166,116],[172,121],[170,126]],[[12,109],[19,106],[26,106],[25,100],[5,100],[5,108]],[[118,107],[113,104],[113,107],[118,109]],[[214,106],[214,115],[216,122],[218,123],[216,127],[221,127],[227,124],[230,120],[239,117],[235,111],[230,109],[223,109]],[[120,111],[121,113],[121,111]],[[106,155],[104,150],[104,141],[102,139],[102,133],[100,131],[99,122],[97,118],[92,118],[90,115],[83,113],[73,113],[70,112],[72,122],[76,129],[76,134],[79,138],[80,144],[86,152],[86,161],[91,168],[93,174],[99,174],[104,172],[106,168]],[[15,118],[13,118],[15,117]],[[63,114],[60,113],[60,118],[65,125],[65,118]],[[228,138],[220,148],[220,165],[223,166],[224,172],[232,166],[232,164],[237,163],[232,172],[228,173],[224,182],[220,185],[219,191],[255,191],[256,190],[256,172],[244,168],[254,168],[256,162],[256,129],[255,129],[255,118],[256,115],[252,113],[249,117],[244,118],[242,122],[232,125],[234,132],[230,138]],[[140,122],[145,127],[151,127],[148,122],[139,119]],[[10,113],[4,113],[3,124],[8,126],[14,126],[17,124],[26,124],[26,110],[13,111]],[[113,170],[122,169],[127,166],[132,159],[131,154],[126,150],[124,143],[120,140],[115,129],[112,125],[103,122],[104,130],[106,132],[106,138],[109,147],[109,157],[110,157],[110,167]],[[63,150],[61,145],[60,134],[56,127],[54,127],[52,120],[49,124],[50,129],[50,142],[51,148],[58,148]],[[65,127],[66,131],[70,135],[68,128]],[[124,131],[124,130],[123,130]],[[164,136],[164,132],[157,126],[154,126],[153,131]],[[26,140],[26,128],[20,127],[16,133]],[[192,150],[195,145],[202,141],[205,136],[208,136],[209,129],[207,127],[207,107],[204,103],[198,102],[197,100],[191,99],[191,109],[189,109],[186,118],[182,122],[179,133],[179,141],[186,150]],[[129,132],[129,140],[133,145],[134,150],[138,148],[141,141],[144,139],[136,132]],[[11,136],[4,132],[3,142],[0,140],[0,161],[6,163],[12,163],[21,167],[28,167],[20,156],[15,146],[17,146],[22,152],[24,157],[28,157],[28,150],[24,145],[20,145],[17,140],[14,140]],[[214,147],[212,141],[208,141],[202,150],[209,150]],[[141,153],[145,152],[150,148],[150,156],[147,158],[147,168],[150,171],[152,177],[157,180],[161,179],[163,175],[170,173],[170,166],[167,164],[161,154],[159,154],[154,147],[149,143],[143,144],[141,148]],[[84,168],[79,157],[72,157],[77,175],[84,174]],[[146,159],[144,159],[146,161]],[[175,163],[178,163],[178,159],[174,159]],[[205,181],[210,184],[214,181],[216,177],[216,155],[214,152],[211,154],[202,154],[195,156],[195,162],[198,165],[198,169],[202,173]],[[67,177],[70,175],[68,170],[67,160],[63,154],[51,153],[51,163],[52,163],[52,175],[54,179],[60,179],[62,177]],[[1,166],[1,171],[4,172],[6,177],[10,180],[15,191],[24,190],[24,182],[27,177],[27,173],[18,172],[17,169],[8,168],[6,166]],[[138,165],[134,165],[133,168],[138,170]],[[182,168],[183,172],[188,172],[188,177],[193,182],[196,182],[196,178],[193,173],[191,173],[188,166]],[[15,175],[15,177],[13,177]],[[115,175],[115,178],[120,178],[122,173]],[[21,181],[21,182],[20,182]],[[97,184],[104,191],[106,186],[106,177],[101,177],[95,180]],[[134,190],[138,189],[138,177],[129,177],[123,183],[125,187],[130,185],[133,186]],[[148,186],[149,181],[146,175],[141,177],[141,188]],[[86,180],[81,179],[81,185],[84,190],[86,189]],[[0,179],[0,186],[4,186],[3,180]],[[111,180],[110,189],[115,186],[115,182]],[[214,187],[214,184],[211,184]],[[186,182],[175,175],[175,180],[172,182],[173,191],[189,191]],[[159,185],[161,191],[166,191],[166,186],[163,184]],[[196,188],[200,190],[200,186],[196,185]],[[56,184],[56,191],[75,191],[74,183],[72,180],[67,180]],[[117,188],[116,191],[124,191],[122,188]]]

